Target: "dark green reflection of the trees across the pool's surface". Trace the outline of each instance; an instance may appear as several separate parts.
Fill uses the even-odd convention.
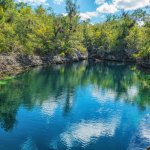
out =
[[[5,131],[13,129],[20,106],[31,110],[52,98],[59,103],[65,97],[64,115],[74,107],[77,87],[95,86],[110,90],[116,100],[138,105],[144,110],[150,105],[150,75],[122,63],[81,63],[53,65],[22,73],[0,85],[0,125]]]

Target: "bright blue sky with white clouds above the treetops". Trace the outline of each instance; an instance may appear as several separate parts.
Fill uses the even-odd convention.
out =
[[[65,0],[16,0],[33,6],[40,4],[52,7],[55,13],[65,14]],[[150,6],[150,0],[77,0],[80,6],[81,20],[90,19],[93,23],[104,20],[108,14],[117,14],[121,10],[132,11]]]

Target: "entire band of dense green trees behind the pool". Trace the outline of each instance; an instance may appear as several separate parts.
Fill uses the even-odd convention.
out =
[[[0,53],[64,57],[88,51],[104,57],[150,60],[149,8],[108,16],[94,25],[81,22],[77,8],[66,0],[67,15],[56,15],[42,6],[33,9],[25,3],[0,0]]]

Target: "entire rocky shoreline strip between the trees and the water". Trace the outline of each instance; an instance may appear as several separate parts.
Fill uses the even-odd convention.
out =
[[[136,61],[133,59],[117,58],[115,56],[108,55],[107,57],[101,57],[92,55],[88,57],[88,53],[76,52],[72,56],[62,57],[61,55],[55,56],[39,56],[39,55],[21,55],[21,54],[0,54],[0,79],[7,75],[14,75],[22,72],[26,69],[35,66],[47,66],[51,64],[63,64],[77,62],[80,60],[92,59],[95,62],[102,60],[117,61],[117,62],[130,62],[135,63],[138,66],[150,69],[150,63],[144,61]],[[137,63],[138,62],[138,63]]]

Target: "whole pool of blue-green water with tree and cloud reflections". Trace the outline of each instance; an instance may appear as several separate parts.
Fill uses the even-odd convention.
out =
[[[145,150],[150,74],[81,62],[0,81],[0,150]]]

